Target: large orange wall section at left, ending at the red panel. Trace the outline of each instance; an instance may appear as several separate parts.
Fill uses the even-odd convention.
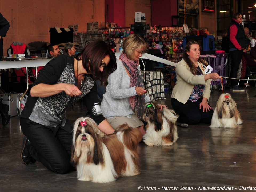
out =
[[[88,22],[100,25],[105,22],[105,0],[1,0],[0,12],[10,22],[3,38],[6,55],[14,41],[50,42],[51,27],[78,24],[78,31],[85,32]]]

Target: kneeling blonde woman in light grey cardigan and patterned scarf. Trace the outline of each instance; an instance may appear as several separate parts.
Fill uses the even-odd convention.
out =
[[[127,123],[145,134],[141,121],[146,90],[139,69],[139,57],[147,50],[147,43],[138,34],[129,35],[123,42],[123,52],[117,60],[117,69],[108,77],[101,110],[113,129]],[[162,109],[163,105],[159,105]],[[134,113],[136,111],[136,114]]]

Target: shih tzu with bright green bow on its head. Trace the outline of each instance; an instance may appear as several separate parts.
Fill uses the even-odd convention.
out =
[[[157,103],[146,103],[142,116],[146,130],[143,136],[144,143],[149,146],[172,145],[178,139],[178,117],[174,110],[163,108],[160,111]]]

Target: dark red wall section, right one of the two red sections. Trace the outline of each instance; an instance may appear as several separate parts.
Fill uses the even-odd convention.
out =
[[[177,13],[177,0],[151,0],[152,4],[152,25],[170,26],[176,25],[177,20],[174,19],[172,23],[172,15],[178,15]]]

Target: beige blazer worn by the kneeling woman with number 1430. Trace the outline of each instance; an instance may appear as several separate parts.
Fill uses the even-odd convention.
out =
[[[206,68],[205,65],[202,64],[202,66],[199,62],[198,66],[200,67],[203,74],[205,72],[203,69]],[[186,103],[189,99],[192,90],[194,88],[194,85],[205,85],[205,88],[203,90],[203,97],[207,98],[209,100],[210,98],[210,85],[211,85],[211,79],[205,81],[205,75],[193,75],[190,72],[189,66],[187,63],[182,59],[180,62],[176,65],[176,75],[177,75],[177,82],[176,85],[173,88],[171,97],[177,99],[181,103]]]

